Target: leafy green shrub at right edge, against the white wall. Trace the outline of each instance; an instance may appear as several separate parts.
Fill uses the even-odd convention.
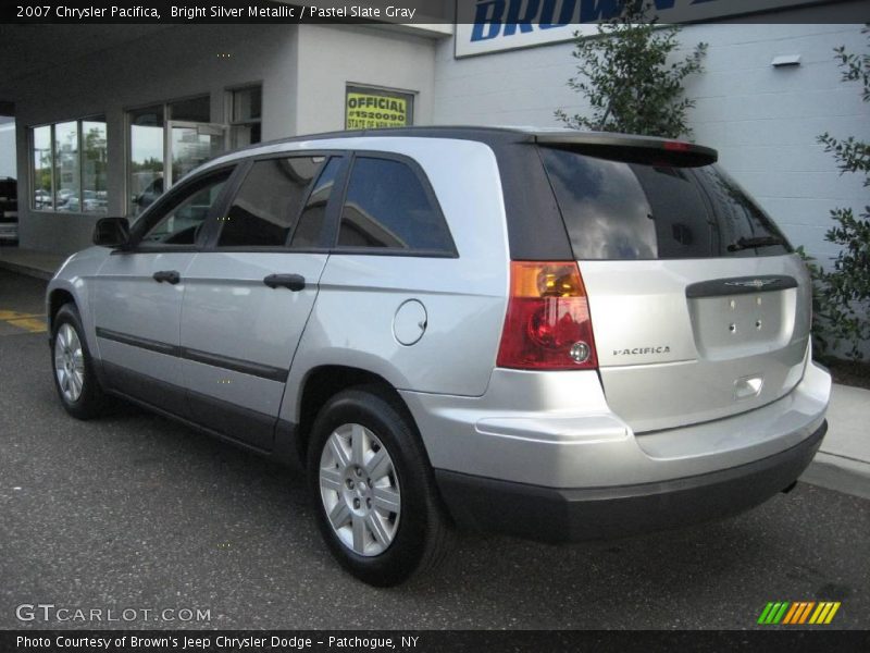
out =
[[[865,26],[862,34],[870,35],[870,25]],[[856,54],[843,46],[834,52],[842,81],[859,82],[861,99],[870,102],[870,52]],[[818,141],[833,155],[841,174],[863,175],[863,186],[870,186],[870,145],[854,136],[834,138],[828,132]],[[861,344],[870,340],[870,206],[865,206],[857,215],[852,208],[836,208],[831,218],[834,226],[828,230],[824,239],[838,245],[840,254],[833,261],[833,270],[823,267],[813,270],[820,286],[817,306],[822,318],[815,328],[817,333],[821,330],[823,344],[834,347],[845,344],[846,356],[860,360]]]

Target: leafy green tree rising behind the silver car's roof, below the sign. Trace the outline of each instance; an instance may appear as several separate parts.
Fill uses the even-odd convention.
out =
[[[673,61],[680,27],[657,26],[649,3],[620,4],[618,15],[598,25],[597,37],[574,33],[579,74],[568,86],[588,100],[592,114],[568,115],[559,109],[556,118],[575,130],[689,136],[686,114],[695,100],[683,96],[683,81],[704,70],[707,44]]]

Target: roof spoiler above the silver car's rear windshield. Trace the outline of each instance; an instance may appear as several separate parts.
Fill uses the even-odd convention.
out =
[[[651,136],[600,132],[554,132],[535,134],[534,140],[545,147],[567,149],[627,163],[660,162],[676,168],[699,168],[716,163],[719,159],[719,152],[710,147]]]

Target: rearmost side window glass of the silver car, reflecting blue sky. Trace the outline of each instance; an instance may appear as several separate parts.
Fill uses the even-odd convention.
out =
[[[399,161],[365,157],[353,163],[338,246],[453,249],[440,210],[413,170]]]

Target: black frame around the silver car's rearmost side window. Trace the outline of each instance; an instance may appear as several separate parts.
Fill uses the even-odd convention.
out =
[[[448,249],[420,249],[420,248],[398,248],[398,247],[347,247],[347,246],[339,246],[338,245],[338,235],[341,229],[341,213],[344,213],[345,201],[347,200],[347,190],[348,186],[350,185],[350,178],[353,174],[353,168],[357,163],[357,159],[382,159],[386,161],[395,161],[397,163],[402,163],[408,167],[413,175],[417,177],[418,182],[420,182],[421,187],[423,188],[423,193],[426,196],[426,199],[431,204],[431,206],[435,209],[438,217],[442,220],[445,229],[447,230],[447,238],[449,241],[450,247]],[[450,223],[447,221],[447,218],[444,214],[444,209],[442,209],[442,205],[438,201],[437,195],[435,195],[435,190],[432,188],[432,184],[428,181],[428,176],[426,176],[425,171],[423,168],[414,159],[407,155],[401,155],[397,152],[385,152],[378,150],[353,150],[350,156],[350,160],[347,162],[347,168],[345,170],[345,178],[344,185],[341,187],[341,201],[338,206],[338,214],[335,217],[335,223],[333,224],[333,239],[332,246],[330,248],[331,254],[341,254],[341,255],[364,255],[364,256],[407,256],[407,257],[418,257],[418,258],[459,258],[459,250],[456,246],[456,241],[453,239],[453,234],[450,231]]]

